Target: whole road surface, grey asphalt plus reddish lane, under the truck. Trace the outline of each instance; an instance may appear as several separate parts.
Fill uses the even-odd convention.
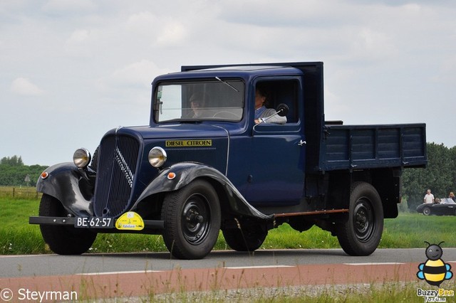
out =
[[[424,245],[423,245],[424,246]],[[456,273],[456,248],[441,259]],[[378,249],[368,257],[334,250],[214,251],[203,260],[175,260],[168,252],[0,256],[0,302],[61,302],[176,292],[280,289],[317,285],[421,282],[425,248]],[[454,277],[453,277],[454,279]],[[448,282],[444,282],[445,284]],[[448,284],[447,284],[448,285]],[[67,297],[56,297],[56,296]],[[452,292],[452,295],[454,293]]]

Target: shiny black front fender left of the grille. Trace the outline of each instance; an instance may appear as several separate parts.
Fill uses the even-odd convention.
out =
[[[93,216],[93,182],[88,174],[73,163],[62,163],[48,167],[36,183],[36,191],[45,193],[61,201],[66,210],[75,216]]]

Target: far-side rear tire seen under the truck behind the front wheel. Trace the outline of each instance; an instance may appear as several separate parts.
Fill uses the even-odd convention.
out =
[[[228,246],[238,252],[252,252],[257,250],[266,239],[267,230],[260,225],[249,226],[248,228],[230,228],[222,230],[223,237]]]

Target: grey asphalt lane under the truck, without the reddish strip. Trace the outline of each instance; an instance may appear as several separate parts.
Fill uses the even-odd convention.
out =
[[[423,243],[424,244],[424,243]],[[456,262],[456,248],[442,245],[442,260]],[[145,272],[219,267],[297,266],[344,263],[425,262],[425,248],[378,249],[367,257],[352,257],[341,249],[258,250],[253,254],[213,251],[202,260],[175,260],[168,252],[0,256],[1,277],[77,275],[105,272]],[[454,265],[453,267],[456,267]]]

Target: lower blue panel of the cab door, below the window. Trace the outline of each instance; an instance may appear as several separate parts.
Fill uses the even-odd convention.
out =
[[[304,138],[286,125],[256,127],[245,197],[254,206],[298,204],[304,191]]]

